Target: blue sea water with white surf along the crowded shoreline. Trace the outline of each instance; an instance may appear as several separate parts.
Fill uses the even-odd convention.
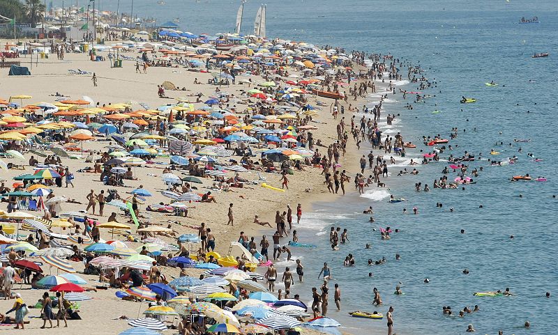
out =
[[[159,6],[155,0],[120,2],[121,13],[130,13],[133,2],[134,13],[140,17],[156,17],[159,24],[180,17],[182,31],[210,34],[234,30],[240,3],[167,0]],[[259,5],[258,1],[246,3],[243,33],[252,33]],[[116,10],[116,1],[101,1],[100,6]],[[393,136],[402,131],[406,141],[420,144],[423,134],[448,138],[451,128],[458,127],[458,138],[450,142],[456,156],[469,150],[475,155],[482,153],[486,159],[519,157],[517,164],[497,167],[489,166],[487,160],[469,162],[469,170],[484,168],[476,178],[478,184],[467,185],[465,190],[432,189],[432,181],[441,176],[446,162],[416,166],[418,176],[395,177],[400,169],[409,169],[409,159],[416,160],[419,150],[431,149],[417,145],[407,150],[407,160],[390,166],[393,178],[388,188],[371,187],[358,196],[352,183],[347,184],[347,196],[321,203],[315,206],[315,212],[304,212],[301,225],[296,227],[301,242],[317,243],[318,247],[292,248],[294,258],[302,256],[306,267],[306,282],[301,286],[295,283],[293,293],[310,300],[310,288],[319,287],[317,274],[328,262],[333,272],[331,288],[339,283],[342,290],[342,312],[335,311],[331,296],[328,316],[354,334],[366,334],[369,328],[384,332],[386,320],[354,319],[348,311],[385,314],[388,306],[395,309],[397,334],[465,334],[469,323],[481,334],[497,334],[499,329],[504,329],[504,334],[556,334],[558,304],[555,297],[547,299],[544,295],[546,291],[558,294],[557,200],[552,198],[558,193],[557,14],[552,0],[268,1],[267,31],[271,37],[342,46],[347,52],[391,52],[396,58],[420,62],[426,77],[435,78],[437,87],[424,93],[436,97],[416,104],[412,111],[402,108],[408,101],[401,95],[389,96],[392,101],[384,104],[382,119],[388,113],[399,116],[398,123],[384,128],[384,134]],[[520,17],[533,16],[538,16],[541,23],[518,24]],[[550,56],[531,59],[536,52],[550,52]],[[407,72],[402,71],[405,78]],[[485,86],[491,80],[499,86]],[[416,84],[400,87],[416,91]],[[477,102],[460,104],[462,95]],[[377,97],[371,96],[370,100]],[[435,110],[442,113],[432,114]],[[345,114],[347,119],[350,116]],[[513,139],[531,142],[513,143]],[[504,145],[495,146],[500,141]],[[349,143],[352,145],[352,141]],[[520,147],[522,153],[518,153]],[[365,153],[366,146],[361,148]],[[492,148],[501,154],[489,155]],[[450,153],[446,150],[442,157]],[[527,153],[543,161],[531,162]],[[356,173],[350,172],[352,176]],[[545,176],[548,181],[508,180],[525,173]],[[455,176],[448,175],[451,179]],[[415,192],[415,182],[428,184],[431,192]],[[409,201],[388,203],[389,194]],[[436,207],[437,202],[443,203],[442,209]],[[361,214],[370,205],[375,223],[368,222],[370,215]],[[403,208],[412,212],[414,207],[418,215],[402,214]],[[455,212],[449,211],[451,207]],[[349,230],[350,243],[342,245],[340,251],[331,251],[329,246],[331,226]],[[386,226],[401,232],[382,241],[378,229]],[[466,233],[461,234],[460,229]],[[372,249],[364,249],[367,243]],[[356,258],[356,266],[342,267],[349,253]],[[395,254],[400,254],[401,260],[396,261]],[[368,258],[382,257],[388,259],[386,264],[366,265]],[[286,265],[281,263],[279,270]],[[462,274],[465,268],[470,271],[468,275]],[[423,283],[427,277],[430,283]],[[405,295],[393,295],[398,282]],[[382,295],[384,306],[371,305],[374,287]],[[516,296],[473,296],[476,291],[506,287]],[[442,315],[442,306],[451,306],[457,314],[464,306],[472,308],[475,304],[481,311],[465,318]],[[522,328],[525,320],[531,322],[531,329]]]

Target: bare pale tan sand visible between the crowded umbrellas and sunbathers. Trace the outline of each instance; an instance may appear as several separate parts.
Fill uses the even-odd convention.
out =
[[[2,41],[0,43],[5,43]],[[106,54],[106,53],[105,53]],[[125,52],[124,54],[128,56],[135,56],[137,52]],[[86,54],[66,54],[65,58],[62,60],[56,59],[56,55],[50,54],[49,59],[39,59],[38,64],[27,63],[30,61],[30,56],[22,56],[20,61],[22,66],[28,66],[32,72],[31,76],[10,76],[4,77],[1,83],[2,87],[2,98],[8,99],[13,95],[31,95],[31,100],[25,100],[24,104],[32,104],[33,102],[54,102],[54,99],[59,98],[54,95],[64,95],[67,99],[78,100],[84,98],[84,96],[91,98],[93,101],[98,102],[98,105],[108,105],[108,104],[130,104],[131,110],[143,109],[143,107],[149,106],[149,108],[156,108],[162,104],[175,104],[176,98],[186,98],[190,102],[195,102],[196,97],[191,95],[197,95],[202,93],[201,100],[206,100],[209,96],[216,93],[216,86],[210,84],[193,84],[194,81],[200,81],[206,83],[208,79],[211,79],[211,75],[208,73],[200,72],[190,72],[185,68],[166,68],[166,67],[150,67],[147,69],[147,73],[137,73],[135,70],[134,61],[124,61],[122,68],[111,68],[108,61],[92,62]],[[361,67],[357,67],[363,69]],[[355,71],[357,70],[355,68]],[[80,69],[89,73],[95,73],[98,86],[93,86],[93,81],[91,75],[69,75],[69,69]],[[289,69],[292,74],[297,74],[302,76],[301,72],[296,71],[294,68]],[[233,95],[239,96],[242,91],[247,91],[250,88],[257,87],[257,84],[261,84],[265,81],[263,77],[252,76],[252,85],[248,84],[231,84],[230,86],[221,86],[221,91],[226,91],[232,93]],[[157,87],[163,84],[164,81],[170,81],[174,85],[179,87],[186,87],[186,91],[165,91],[165,95],[168,98],[159,98]],[[357,81],[360,84],[361,81]],[[384,89],[384,86],[379,84],[379,90]],[[348,92],[348,88],[346,89]],[[348,104],[344,104],[345,114],[339,114],[338,120],[333,120],[331,114],[331,104],[333,100],[327,98],[317,98],[315,95],[307,95],[308,104],[312,104],[317,107],[315,111],[317,113],[312,116],[312,125],[315,125],[317,129],[312,130],[314,139],[319,139],[325,146],[333,143],[337,139],[335,136],[335,127],[337,126],[340,118],[345,117],[345,124],[350,124],[350,117],[352,113],[347,112]],[[257,99],[250,98],[252,102],[256,102]],[[352,98],[350,99],[352,100]],[[318,107],[317,102],[321,102],[324,107]],[[361,100],[349,101],[354,106],[361,105]],[[140,106],[140,104],[142,106]],[[201,106],[199,103],[196,106]],[[246,104],[236,104],[237,113],[244,113],[248,106]],[[240,114],[241,115],[241,114]],[[68,130],[71,132],[72,130]],[[112,143],[112,142],[111,142]],[[138,187],[143,187],[149,190],[153,196],[147,197],[144,203],[140,204],[140,221],[149,222],[150,225],[154,226],[167,226],[170,224],[172,230],[176,235],[183,234],[197,234],[197,228],[204,222],[207,228],[211,228],[211,232],[215,236],[216,240],[216,251],[222,255],[226,255],[229,250],[229,242],[236,242],[239,240],[239,234],[243,231],[246,235],[254,236],[255,240],[259,242],[262,234],[266,234],[269,237],[273,235],[273,230],[271,228],[262,228],[258,224],[254,224],[255,215],[259,215],[260,221],[269,221],[271,226],[274,226],[275,212],[276,210],[287,210],[287,205],[291,205],[293,210],[296,210],[296,205],[301,203],[303,215],[302,224],[304,221],[304,212],[310,211],[312,208],[312,203],[316,201],[335,201],[336,195],[331,194],[326,189],[324,185],[324,176],[321,176],[322,169],[312,166],[305,166],[306,171],[296,171],[294,175],[289,176],[289,189],[286,192],[278,192],[273,189],[268,189],[255,184],[245,184],[243,188],[235,188],[234,192],[220,192],[219,190],[212,190],[212,195],[216,199],[216,203],[203,203],[195,202],[189,203],[188,217],[179,217],[172,214],[158,213],[158,212],[148,212],[146,211],[146,206],[149,204],[157,203],[169,203],[169,198],[163,196],[161,191],[167,189],[167,185],[161,180],[161,175],[163,174],[163,169],[168,166],[168,158],[154,158],[152,159],[154,163],[164,163],[164,164],[144,164],[140,167],[133,167],[133,176],[137,180],[124,180],[125,186],[111,186],[108,187],[103,185],[99,180],[98,173],[85,173],[80,172],[80,169],[84,169],[86,166],[93,167],[92,163],[84,162],[84,158],[88,155],[88,152],[101,153],[109,145],[109,141],[103,139],[103,137],[96,137],[91,141],[84,141],[79,143],[79,147],[83,146],[84,152],[76,151],[71,153],[72,155],[77,155],[77,158],[63,158],[63,166],[67,166],[69,171],[71,171],[75,179],[73,184],[75,187],[53,187],[53,192],[55,196],[64,196],[68,199],[73,199],[76,203],[62,203],[61,212],[65,211],[77,211],[85,210],[87,205],[86,195],[89,190],[93,190],[95,194],[98,194],[100,190],[104,189],[117,189],[119,195],[122,198],[128,198],[132,196],[130,192]],[[263,146],[266,148],[266,146]],[[271,147],[273,148],[273,146]],[[322,155],[326,154],[326,147],[319,147]],[[33,173],[32,166],[29,166],[28,161],[33,153],[24,152],[24,159],[18,159],[15,157],[6,157],[4,161],[6,163],[13,163],[17,165],[22,165],[22,169],[10,169],[8,171],[3,171],[2,179],[5,180],[6,186],[10,187],[13,183],[13,178],[24,173]],[[36,157],[36,155],[35,155]],[[39,162],[42,163],[43,157],[36,157]],[[231,157],[239,158],[239,157]],[[347,148],[347,153],[340,157],[340,167],[338,169],[346,169],[347,176],[353,176],[358,170],[358,155],[352,150],[352,148]],[[222,158],[222,161],[225,159]],[[172,171],[177,175],[181,176],[182,171]],[[260,172],[261,173],[261,172]],[[264,173],[265,182],[273,187],[281,186],[281,175],[278,173]],[[232,176],[232,175],[229,175]],[[241,173],[241,177],[246,180],[258,180],[259,173],[257,171],[247,171]],[[182,176],[181,176],[182,177]],[[202,184],[193,184],[197,187],[193,192],[204,193],[211,187],[213,179],[211,177],[201,178]],[[262,180],[259,180],[261,182]],[[352,189],[350,182],[347,183],[349,189]],[[352,192],[352,191],[349,191]],[[234,204],[234,226],[227,225],[227,208],[228,204]],[[6,204],[4,204],[5,207]],[[5,209],[5,208],[3,208]],[[88,217],[98,220],[98,222],[103,223],[107,221],[107,217],[112,212],[119,212],[118,208],[105,205],[105,213],[103,217],[98,215],[91,215],[91,211]],[[117,216],[118,221],[128,222],[130,219],[121,215],[119,212]],[[294,215],[296,212],[294,213]],[[33,215],[42,215],[42,212],[34,212]],[[296,217],[294,218],[296,221]],[[130,222],[131,223],[131,222]],[[133,225],[132,225],[133,227]],[[296,228],[296,225],[294,226]],[[59,228],[61,229],[61,228]],[[56,228],[52,228],[52,231],[56,233]],[[66,230],[66,228],[61,229],[59,233],[68,234],[71,229]],[[132,228],[132,235],[134,233],[135,227]],[[27,235],[29,232],[20,231],[20,234]],[[101,238],[103,240],[113,240],[111,233],[105,229],[100,229]],[[126,235],[119,235],[119,239],[125,239]],[[164,237],[157,235],[156,237],[164,240],[165,242],[176,243],[175,238]],[[114,236],[116,239],[116,236]],[[270,239],[271,240],[271,239]],[[287,238],[282,239],[282,243],[287,243]],[[141,242],[130,242],[130,248],[141,247]],[[191,252],[196,253],[197,247],[195,244],[191,246]],[[259,249],[259,247],[258,247]],[[271,248],[270,248],[271,249]],[[271,251],[270,251],[271,253]],[[282,256],[285,257],[285,256]],[[271,256],[270,256],[271,258]],[[293,254],[293,258],[296,259],[296,254]],[[83,269],[82,263],[73,263],[77,272],[81,272]],[[43,268],[47,268],[45,265]],[[260,267],[258,272],[263,273],[266,267]],[[47,270],[48,271],[48,270]],[[193,276],[199,276],[202,273],[200,270],[190,269],[187,270],[188,274]],[[55,269],[51,270],[51,274],[56,272]],[[167,276],[167,281],[179,276],[179,270],[172,267],[161,267],[161,272]],[[88,286],[94,287],[98,286],[98,276],[83,275],[83,278],[89,281]],[[21,293],[28,305],[30,303],[36,302],[40,299],[43,290],[29,290],[29,286],[16,284],[14,290],[17,293]],[[60,328],[56,330],[56,334],[75,334],[76,327],[80,329],[85,329],[89,327],[96,327],[97,325],[102,325],[101,327],[96,327],[96,332],[98,334],[118,334],[124,329],[128,328],[128,325],[124,320],[117,320],[121,315],[126,315],[128,318],[137,318],[138,315],[146,309],[146,303],[139,304],[135,302],[122,302],[121,299],[115,297],[115,290],[109,288],[108,290],[98,290],[97,292],[89,292],[92,300],[81,302],[81,315],[82,319],[80,321],[70,321],[70,327],[68,329]],[[307,296],[308,293],[299,293],[301,296]],[[6,311],[13,304],[13,300],[0,300],[0,308]],[[38,317],[38,311],[31,309],[29,315],[31,317]],[[142,315],[140,315],[141,317]],[[26,318],[29,320],[29,318]],[[174,324],[176,325],[178,319]],[[31,319],[31,324],[26,325],[25,331],[20,331],[21,334],[35,334],[36,329],[40,327],[40,320]],[[304,329],[305,334],[310,334],[312,331]],[[169,331],[169,334],[172,331]]]

